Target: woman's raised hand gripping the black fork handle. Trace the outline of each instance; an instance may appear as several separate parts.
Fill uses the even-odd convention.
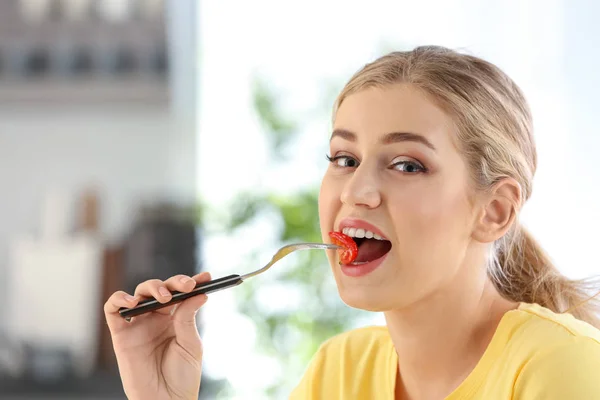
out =
[[[134,296],[115,292],[104,304],[104,313],[117,356],[123,389],[130,400],[197,399],[202,374],[202,342],[196,313],[206,295],[133,317],[127,322],[121,307],[135,307],[143,298],[160,303],[171,300],[170,291],[190,292],[209,281],[203,272],[190,278],[176,275],[166,281],[151,279],[138,285]]]

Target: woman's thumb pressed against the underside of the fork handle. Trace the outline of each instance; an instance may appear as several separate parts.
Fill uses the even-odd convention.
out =
[[[196,324],[196,314],[207,300],[208,296],[205,294],[190,297],[181,302],[173,313],[177,343],[198,360],[202,358],[202,343]]]

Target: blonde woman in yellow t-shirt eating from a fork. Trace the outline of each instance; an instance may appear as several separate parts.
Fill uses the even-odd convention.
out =
[[[513,81],[440,47],[389,54],[343,89],[330,151],[323,240],[335,230],[360,246],[352,265],[328,254],[338,291],[387,324],[324,343],[291,398],[600,399],[598,309],[518,222],[537,160]],[[129,398],[197,397],[206,296],[131,324],[118,308],[208,279],[147,281],[107,301]]]

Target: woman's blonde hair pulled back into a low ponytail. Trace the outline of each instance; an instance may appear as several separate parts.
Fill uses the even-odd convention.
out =
[[[531,196],[537,154],[529,106],[519,87],[498,67],[438,46],[393,52],[367,64],[335,103],[369,87],[411,84],[452,116],[457,144],[479,190],[510,177],[521,185],[515,212]],[[498,291],[517,302],[537,303],[600,327],[593,284],[563,276],[518,223],[494,243],[488,275]],[[597,289],[597,288],[596,288]]]

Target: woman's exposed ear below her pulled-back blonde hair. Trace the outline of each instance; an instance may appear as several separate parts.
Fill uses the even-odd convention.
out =
[[[491,243],[504,236],[515,221],[521,208],[521,185],[513,178],[504,178],[483,196],[480,205],[473,238]]]

